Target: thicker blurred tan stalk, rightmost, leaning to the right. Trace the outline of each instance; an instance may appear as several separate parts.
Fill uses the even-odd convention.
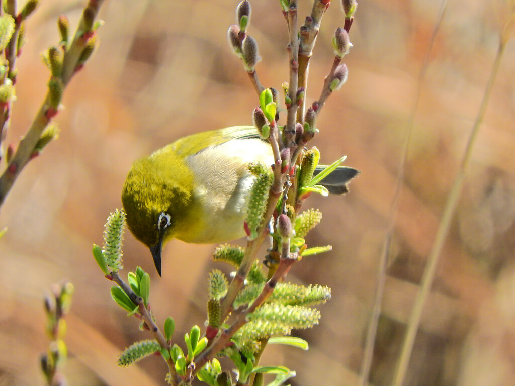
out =
[[[404,343],[402,346],[401,356],[399,358],[397,370],[392,382],[392,385],[394,386],[402,386],[404,378],[406,376],[409,358],[411,356],[411,351],[413,350],[413,344],[415,342],[415,337],[420,324],[422,310],[425,304],[425,300],[427,299],[427,295],[429,294],[429,291],[431,289],[431,285],[433,284],[438,258],[440,256],[445,238],[447,237],[447,233],[451,225],[451,220],[454,215],[454,210],[456,208],[456,203],[458,201],[459,194],[463,186],[463,182],[465,180],[465,172],[470,163],[470,158],[472,156],[472,148],[477,137],[477,133],[479,131],[479,126],[483,122],[485,111],[488,106],[488,101],[492,93],[493,84],[495,78],[497,77],[497,73],[499,72],[499,67],[503,57],[505,44],[506,41],[504,41],[504,39],[501,40],[499,48],[497,49],[497,55],[493,63],[492,71],[490,72],[490,77],[486,85],[483,100],[481,101],[481,104],[479,106],[479,110],[477,112],[477,116],[474,121],[472,131],[467,140],[465,152],[461,159],[461,163],[459,165],[456,178],[451,187],[451,191],[449,192],[447,202],[445,203],[445,208],[443,210],[442,218],[440,219],[440,224],[438,226],[436,238],[428,257],[427,266],[422,277],[420,290],[417,294],[415,306],[413,307],[413,311],[411,312],[411,316],[409,318],[406,336],[404,338]]]

